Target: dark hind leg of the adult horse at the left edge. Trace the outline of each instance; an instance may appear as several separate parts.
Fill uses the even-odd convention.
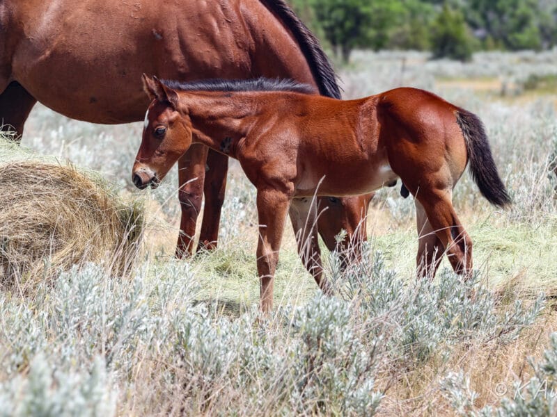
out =
[[[0,94],[0,131],[15,130],[17,138],[37,100],[17,81],[12,81]]]

